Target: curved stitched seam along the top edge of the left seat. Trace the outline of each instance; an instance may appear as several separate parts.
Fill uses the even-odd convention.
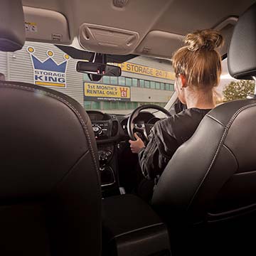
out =
[[[60,102],[63,102],[65,105],[68,105],[68,107],[70,107],[70,109],[73,110],[73,112],[75,112],[75,114],[77,115],[77,117],[78,117],[78,119],[79,119],[79,121],[80,121],[80,124],[82,124],[82,128],[83,128],[83,130],[84,130],[84,132],[85,132],[85,138],[86,138],[87,143],[88,143],[88,145],[89,145],[90,152],[91,152],[91,154],[92,154],[92,159],[93,159],[94,164],[95,164],[95,169],[96,169],[96,171],[97,171],[97,173],[98,173],[97,161],[96,161],[96,159],[95,159],[95,154],[94,154],[94,150],[93,150],[93,148],[92,148],[92,143],[91,143],[91,140],[90,140],[89,132],[88,132],[88,130],[87,130],[86,124],[85,124],[85,122],[83,121],[83,119],[82,119],[80,113],[78,112],[78,110],[75,109],[75,107],[73,107],[73,105],[71,105],[67,100],[64,100],[62,97],[59,97],[59,96],[57,96],[57,95],[54,95],[53,93],[46,92],[46,91],[43,91],[43,90],[39,90],[39,89],[36,89],[36,88],[26,87],[26,86],[24,86],[24,85],[13,85],[13,84],[8,84],[8,83],[6,83],[6,82],[1,83],[1,87],[3,87],[2,85],[7,85],[7,86],[6,86],[7,88],[8,88],[8,87],[14,87],[14,88],[17,87],[17,88],[21,88],[21,89],[23,89],[23,90],[28,90],[28,91],[32,91],[32,92],[41,92],[41,93],[43,93],[44,95],[48,95],[48,96],[50,96],[50,97],[53,97],[53,98],[55,98],[55,99],[58,99],[58,100],[60,100]],[[99,174],[99,173],[98,173],[98,174]],[[99,177],[98,177],[98,178],[99,178]]]

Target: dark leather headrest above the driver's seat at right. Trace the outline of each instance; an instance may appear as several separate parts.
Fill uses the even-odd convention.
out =
[[[256,4],[250,6],[235,26],[228,49],[228,70],[233,78],[256,75]]]

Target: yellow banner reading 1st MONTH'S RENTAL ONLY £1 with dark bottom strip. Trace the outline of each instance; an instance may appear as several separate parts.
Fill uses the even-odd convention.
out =
[[[130,87],[84,82],[85,100],[131,100]]]

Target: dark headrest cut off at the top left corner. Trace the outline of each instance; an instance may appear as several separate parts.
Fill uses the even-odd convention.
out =
[[[25,43],[25,23],[21,0],[1,0],[0,50],[14,52]]]

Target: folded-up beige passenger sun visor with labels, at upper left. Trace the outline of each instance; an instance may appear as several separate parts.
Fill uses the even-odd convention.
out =
[[[23,6],[26,40],[69,44],[68,21],[58,11]]]

